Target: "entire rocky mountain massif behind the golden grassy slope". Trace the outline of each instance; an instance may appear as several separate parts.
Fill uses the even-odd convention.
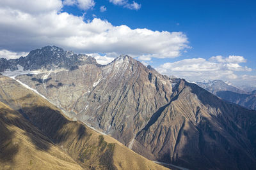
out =
[[[12,75],[74,122],[84,122],[150,160],[189,169],[256,167],[256,111],[223,101],[205,90],[207,85],[202,89],[195,83],[161,75],[127,55],[102,66],[87,55],[68,53],[72,52],[56,46],[33,50],[17,62],[4,60],[14,64],[1,68],[2,74]],[[37,62],[44,57],[51,61]],[[19,60],[26,60],[26,64]],[[209,91],[218,93],[217,85]],[[1,98],[15,101],[8,95]],[[26,114],[17,111],[43,132],[52,124],[54,129],[63,126],[55,117],[44,123],[42,115],[34,115],[35,110]],[[65,132],[56,139],[74,138],[69,135]]]

